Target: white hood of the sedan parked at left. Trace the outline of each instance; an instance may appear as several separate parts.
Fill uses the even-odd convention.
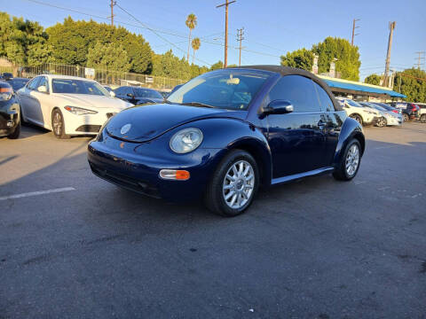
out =
[[[62,100],[64,104],[78,107],[90,108],[114,108],[125,109],[132,106],[129,102],[125,102],[120,98],[97,96],[91,94],[53,94],[54,97]]]

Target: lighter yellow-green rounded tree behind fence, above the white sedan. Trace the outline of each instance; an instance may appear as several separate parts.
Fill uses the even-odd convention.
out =
[[[96,43],[87,54],[87,66],[104,70],[127,72],[130,69],[127,51],[113,43]]]

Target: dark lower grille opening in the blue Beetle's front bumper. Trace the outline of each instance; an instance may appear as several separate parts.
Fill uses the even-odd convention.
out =
[[[125,189],[128,189],[130,191],[136,191],[146,196],[160,198],[158,189],[153,185],[146,183],[145,181],[140,181],[138,179],[131,178],[127,175],[111,172],[110,170],[101,168],[92,162],[89,162],[89,164],[91,165],[91,171],[94,175],[97,175],[110,183],[114,183],[118,186],[122,186]]]

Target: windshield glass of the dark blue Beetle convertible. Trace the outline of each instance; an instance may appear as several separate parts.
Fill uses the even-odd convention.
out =
[[[271,74],[250,70],[220,70],[201,74],[173,92],[168,101],[230,110],[247,110],[251,99]]]

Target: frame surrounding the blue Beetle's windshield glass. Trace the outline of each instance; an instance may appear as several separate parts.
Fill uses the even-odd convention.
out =
[[[253,92],[253,95],[250,99],[250,101],[248,102],[248,105],[243,108],[243,109],[238,109],[238,108],[230,108],[230,107],[222,107],[222,106],[217,106],[217,105],[210,105],[209,103],[205,103],[203,101],[191,101],[191,102],[183,102],[183,103],[179,103],[179,102],[173,102],[170,101],[170,97],[172,97],[173,95],[177,94],[177,92],[182,89],[185,88],[185,85],[187,85],[188,83],[193,82],[196,79],[199,79],[201,77],[206,76],[207,74],[219,74],[219,73],[223,73],[223,72],[239,72],[241,74],[253,74],[253,75],[259,75],[259,76],[264,76],[264,82],[261,83],[259,85],[259,87],[256,89],[256,91]],[[225,68],[225,69],[219,69],[219,70],[215,70],[215,71],[210,71],[208,73],[205,74],[201,74],[195,78],[193,78],[192,80],[185,82],[185,84],[183,84],[180,88],[178,88],[176,91],[174,91],[173,93],[170,94],[169,97],[167,97],[167,99],[165,99],[165,103],[168,104],[174,104],[174,105],[191,105],[193,104],[204,104],[204,105],[208,105],[208,107],[212,107],[215,109],[219,109],[219,110],[224,110],[224,111],[230,111],[230,112],[246,112],[248,113],[251,110],[252,105],[256,104],[257,101],[257,97],[259,96],[259,94],[262,94],[262,91],[264,89],[265,86],[269,85],[268,83],[272,80],[272,78],[274,78],[275,76],[277,76],[278,74],[271,72],[271,71],[265,71],[265,70],[259,70],[259,69],[250,69],[250,68],[239,68],[239,67],[235,67],[235,68]],[[236,75],[238,76],[238,75]],[[194,107],[202,107],[201,105],[193,105]]]

